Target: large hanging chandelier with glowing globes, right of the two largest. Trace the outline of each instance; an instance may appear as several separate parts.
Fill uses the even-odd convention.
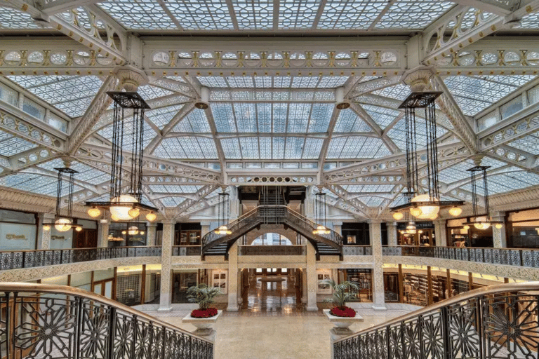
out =
[[[438,188],[438,144],[436,125],[436,106],[434,100],[440,92],[411,93],[399,109],[404,109],[406,121],[406,203],[391,208],[393,218],[404,218],[410,231],[415,231],[415,219],[437,219],[440,208],[451,207],[449,212],[458,216],[462,212],[463,201],[441,201]],[[425,128],[418,128],[415,118],[416,109],[423,109]],[[425,134],[426,153],[418,154],[418,132]],[[421,162],[425,162],[423,165]],[[411,217],[408,217],[408,213]]]

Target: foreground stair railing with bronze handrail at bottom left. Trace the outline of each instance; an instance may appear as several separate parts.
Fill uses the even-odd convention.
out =
[[[0,283],[1,358],[213,358],[213,343],[98,294]]]

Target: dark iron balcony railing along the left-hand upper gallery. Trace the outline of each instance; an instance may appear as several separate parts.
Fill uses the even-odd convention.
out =
[[[10,250],[0,252],[0,271],[126,257],[160,257],[161,246]]]

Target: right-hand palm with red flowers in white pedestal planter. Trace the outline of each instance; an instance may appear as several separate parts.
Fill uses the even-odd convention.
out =
[[[333,296],[330,299],[324,300],[326,303],[333,303],[333,309],[324,309],[324,314],[335,327],[341,330],[347,330],[352,323],[363,321],[361,316],[358,316],[354,309],[346,306],[346,302],[350,302],[356,298],[356,291],[361,287],[358,283],[345,281],[340,284],[335,283],[335,280],[325,280],[326,284],[331,286]]]

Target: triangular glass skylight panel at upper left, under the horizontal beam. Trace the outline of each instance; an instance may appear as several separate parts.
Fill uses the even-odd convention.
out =
[[[8,76],[69,117],[78,117],[90,106],[102,81],[97,76]]]

